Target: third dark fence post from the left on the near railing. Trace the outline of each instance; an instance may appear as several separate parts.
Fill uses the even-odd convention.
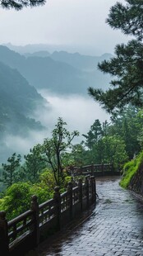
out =
[[[61,230],[61,194],[59,192],[59,187],[54,188],[53,199],[56,206],[57,229]]]

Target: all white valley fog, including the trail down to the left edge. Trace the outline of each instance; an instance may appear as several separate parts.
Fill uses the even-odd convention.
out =
[[[86,97],[80,95],[61,96],[46,90],[39,92],[47,100],[47,104],[45,107],[37,109],[34,116],[45,129],[30,130],[26,136],[7,135],[4,138],[7,149],[4,150],[5,155],[1,155],[1,162],[6,161],[7,157],[14,152],[21,155],[28,154],[34,145],[42,143],[44,138],[51,137],[51,131],[56,125],[58,117],[62,117],[63,121],[67,122],[67,130],[80,132],[73,143],[80,143],[84,139],[82,134],[86,134],[90,130],[95,119],[99,119],[101,122],[109,121],[108,114],[88,95]]]

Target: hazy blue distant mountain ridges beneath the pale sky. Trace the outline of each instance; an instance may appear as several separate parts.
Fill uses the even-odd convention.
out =
[[[42,57],[38,52],[25,57],[0,45],[0,60],[18,69],[35,88],[62,94],[85,94],[90,86],[107,88],[110,78],[97,70],[99,58],[66,52],[54,52],[50,57],[44,55],[45,52]]]

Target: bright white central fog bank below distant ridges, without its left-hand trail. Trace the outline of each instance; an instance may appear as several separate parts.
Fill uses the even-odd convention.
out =
[[[49,107],[48,112],[38,110],[36,118],[39,118],[39,121],[48,127],[48,130],[53,129],[59,116],[67,122],[68,130],[78,130],[81,135],[89,131],[95,119],[99,119],[101,123],[105,120],[109,121],[109,115],[88,96],[59,96],[47,90],[39,92],[49,102]]]

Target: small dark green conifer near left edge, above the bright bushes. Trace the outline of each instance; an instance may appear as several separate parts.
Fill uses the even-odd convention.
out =
[[[2,182],[8,187],[21,178],[20,166],[21,154],[16,155],[16,153],[7,159],[7,164],[2,164]]]

